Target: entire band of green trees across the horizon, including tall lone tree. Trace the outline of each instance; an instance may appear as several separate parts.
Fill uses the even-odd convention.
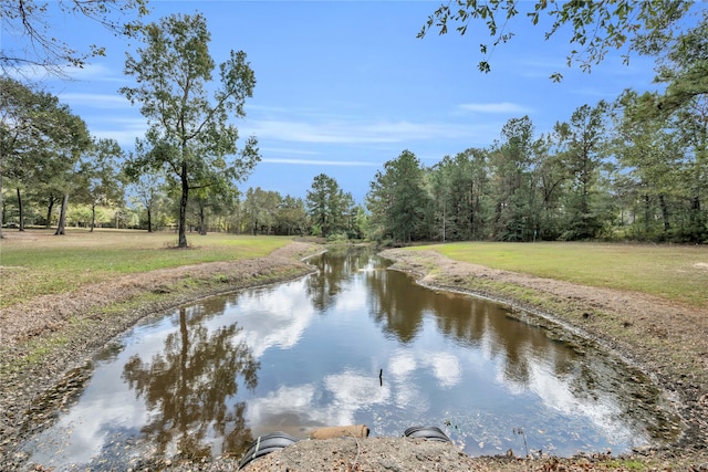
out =
[[[237,147],[233,118],[256,85],[242,51],[216,64],[205,18],[173,14],[132,30],[136,80],[121,93],[148,130],[125,153],[91,136],[52,94],[0,78],[2,223],[175,229],[186,233],[317,234],[413,241],[629,239],[708,241],[708,19],[662,53],[663,92],[626,90],[580,106],[538,135],[514,117],[487,148],[425,167],[410,150],[385,162],[356,203],[316,176],[306,198],[239,183],[260,160],[258,140]],[[214,80],[218,75],[218,80]],[[211,91],[207,93],[207,91]],[[71,204],[70,204],[71,202]]]

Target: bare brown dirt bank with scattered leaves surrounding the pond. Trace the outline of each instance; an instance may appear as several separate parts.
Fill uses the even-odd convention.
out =
[[[17,444],[53,421],[55,413],[81,390],[93,353],[139,318],[199,296],[302,275],[311,268],[300,259],[320,249],[293,242],[268,258],[131,275],[1,311],[0,470],[27,470]],[[391,250],[384,255],[397,261],[394,269],[416,274],[424,285],[510,303],[537,313],[551,328],[560,325],[618,350],[675,399],[686,426],[679,441],[668,448],[636,451],[618,461],[603,454],[563,460],[469,458],[452,444],[439,442],[344,438],[299,441],[259,459],[248,471],[593,471],[636,470],[639,465],[644,470],[708,471],[705,311],[642,294],[459,263],[435,252]],[[520,295],[516,287],[525,292]],[[146,294],[154,295],[154,300],[147,303]],[[140,303],[132,303],[135,300]],[[108,305],[114,307],[111,313],[101,310]],[[135,468],[162,469],[232,471],[238,469],[238,458],[201,462],[145,458]]]

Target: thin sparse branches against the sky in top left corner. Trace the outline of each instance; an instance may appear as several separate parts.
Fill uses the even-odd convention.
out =
[[[0,0],[2,34],[17,34],[27,41],[21,50],[0,49],[0,70],[7,74],[32,66],[65,76],[67,66],[83,67],[92,56],[105,55],[104,46],[91,44],[88,51],[80,51],[60,39],[49,20],[51,14],[88,19],[129,38],[147,12],[147,0]]]

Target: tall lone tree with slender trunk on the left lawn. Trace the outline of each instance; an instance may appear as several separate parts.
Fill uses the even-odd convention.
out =
[[[237,148],[238,128],[230,118],[243,118],[243,104],[256,85],[242,51],[230,52],[219,65],[220,84],[211,83],[215,62],[211,39],[200,13],[173,14],[140,29],[145,48],[128,54],[125,71],[137,86],[121,92],[139,103],[148,119],[148,153],[137,160],[143,169],[166,168],[180,187],[179,248],[187,248],[189,190],[219,181],[243,179],[259,161],[256,137]],[[209,97],[209,88],[216,88]],[[233,156],[232,160],[228,157]]]

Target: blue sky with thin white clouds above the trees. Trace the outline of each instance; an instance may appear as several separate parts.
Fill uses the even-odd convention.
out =
[[[156,1],[146,21],[173,13],[201,12],[211,33],[217,63],[242,50],[256,74],[244,119],[235,120],[241,138],[256,135],[262,160],[244,182],[304,198],[319,174],[334,178],[364,202],[369,182],[384,162],[403,150],[425,166],[470,147],[488,147],[511,118],[528,115],[537,135],[549,133],[573,111],[623,90],[657,90],[654,60],[633,55],[623,65],[618,52],[592,69],[569,69],[568,32],[545,41],[523,13],[510,24],[510,43],[486,59],[490,73],[477,69],[479,44],[490,42],[468,30],[416,38],[439,1]],[[523,4],[523,3],[522,3]],[[531,6],[532,3],[527,3]],[[704,3],[705,4],[705,3]],[[128,44],[85,19],[50,17],[58,35],[86,50],[106,46],[71,81],[42,83],[97,138],[114,138],[133,150],[146,119],[118,93],[132,84],[124,75]],[[483,34],[481,34],[483,33]],[[22,38],[2,31],[3,48]],[[561,83],[549,76],[561,72]]]

